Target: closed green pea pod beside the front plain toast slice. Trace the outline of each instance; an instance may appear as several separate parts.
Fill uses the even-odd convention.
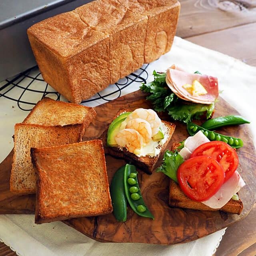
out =
[[[126,221],[127,218],[127,200],[124,192],[124,169],[125,166],[122,166],[115,172],[110,185],[113,214],[116,220],[120,222]]]

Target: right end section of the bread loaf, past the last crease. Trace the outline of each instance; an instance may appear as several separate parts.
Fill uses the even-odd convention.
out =
[[[118,1],[132,12],[148,17],[144,43],[144,63],[152,62],[170,51],[180,13],[178,1]]]

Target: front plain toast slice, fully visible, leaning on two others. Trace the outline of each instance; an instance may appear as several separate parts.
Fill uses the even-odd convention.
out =
[[[35,222],[112,212],[101,140],[31,148],[36,167]]]

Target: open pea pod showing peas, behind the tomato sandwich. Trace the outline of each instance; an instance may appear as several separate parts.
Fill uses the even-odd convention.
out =
[[[230,145],[232,148],[241,148],[243,146],[243,141],[239,138],[231,137],[231,136],[226,136],[222,135],[216,132],[212,132],[210,130],[207,130],[201,126],[198,126],[192,122],[187,123],[187,130],[188,133],[193,136],[196,134],[198,131],[202,131],[203,134],[209,139],[209,140],[219,140],[226,142],[228,145]]]

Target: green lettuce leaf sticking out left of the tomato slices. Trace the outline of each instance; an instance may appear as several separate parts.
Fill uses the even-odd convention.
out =
[[[163,172],[165,175],[178,183],[177,170],[183,162],[183,158],[180,156],[180,154],[178,154],[178,151],[172,152],[170,150],[166,150],[164,153],[163,162],[161,166],[156,169],[156,172]]]

